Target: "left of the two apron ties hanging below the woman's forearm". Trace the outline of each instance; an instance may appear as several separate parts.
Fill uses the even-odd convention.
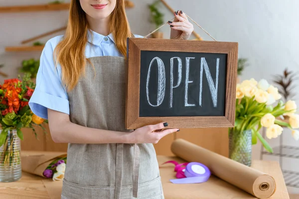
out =
[[[114,199],[121,199],[121,189],[122,189],[122,182],[123,182],[123,161],[124,161],[124,144],[117,143]]]

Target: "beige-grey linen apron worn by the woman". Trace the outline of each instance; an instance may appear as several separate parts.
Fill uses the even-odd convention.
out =
[[[89,59],[85,76],[68,93],[73,123],[113,131],[125,129],[126,61]],[[81,132],[84,133],[84,132]],[[137,196],[138,193],[138,196]],[[72,144],[61,199],[164,199],[152,144]]]

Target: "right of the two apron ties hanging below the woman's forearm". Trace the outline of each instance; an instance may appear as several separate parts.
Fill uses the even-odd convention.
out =
[[[133,161],[133,197],[138,197],[138,181],[140,166],[140,148],[138,144],[134,144],[134,161]]]

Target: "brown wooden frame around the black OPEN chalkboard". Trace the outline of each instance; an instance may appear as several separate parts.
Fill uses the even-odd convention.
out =
[[[127,39],[126,129],[167,122],[169,128],[233,127],[235,123],[238,43],[176,39]],[[227,54],[225,116],[140,117],[141,51]]]

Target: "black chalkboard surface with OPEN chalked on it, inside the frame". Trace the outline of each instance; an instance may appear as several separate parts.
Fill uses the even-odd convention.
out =
[[[226,54],[141,51],[140,112],[224,116]]]

